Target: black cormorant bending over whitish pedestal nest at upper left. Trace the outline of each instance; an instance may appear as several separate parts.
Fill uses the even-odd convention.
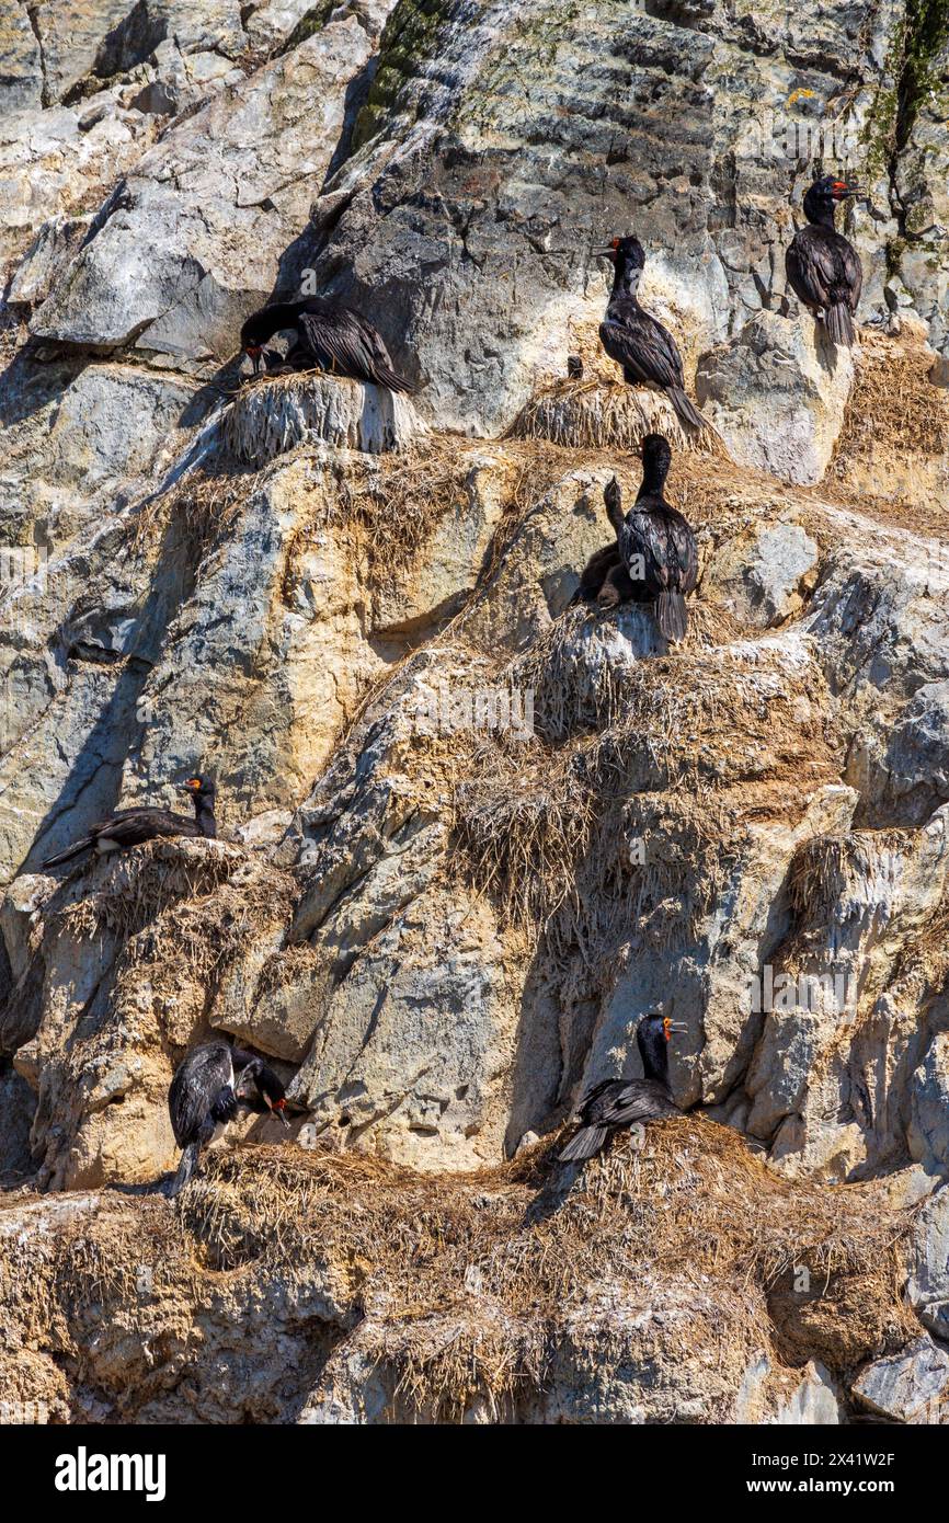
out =
[[[349,376],[352,381],[372,381],[375,385],[387,385],[390,391],[411,390],[408,381],[396,375],[382,335],[372,323],[350,306],[328,302],[321,295],[277,302],[247,318],[241,329],[241,349],[251,356],[254,373],[260,369],[267,340],[288,327],[297,334],[286,356],[291,369],[300,369],[303,359],[308,359],[320,370]]]

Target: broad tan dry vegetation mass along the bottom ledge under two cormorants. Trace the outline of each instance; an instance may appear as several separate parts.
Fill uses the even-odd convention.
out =
[[[784,1327],[781,1301],[795,1266],[810,1273],[809,1305],[845,1313],[838,1357],[821,1348],[838,1371],[905,1337],[897,1244],[909,1217],[883,1185],[778,1179],[736,1133],[693,1116],[650,1125],[641,1151],[620,1135],[565,1199],[564,1177],[548,1145],[437,1177],[257,1147],[209,1154],[178,1209],[209,1269],[324,1264],[334,1301],[364,1319],[361,1352],[419,1413],[448,1419],[475,1398],[504,1412],[541,1390],[565,1330],[576,1342],[585,1313],[596,1323],[603,1287],[623,1302],[609,1337],[626,1363],[649,1354],[637,1311],[678,1304],[666,1359],[701,1357],[724,1319],[717,1359],[733,1390],[754,1349],[803,1336],[800,1311]],[[699,1313],[705,1298],[716,1317]]]

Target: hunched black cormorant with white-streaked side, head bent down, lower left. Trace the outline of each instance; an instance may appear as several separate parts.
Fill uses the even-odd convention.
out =
[[[283,1084],[262,1057],[232,1048],[228,1042],[206,1042],[189,1052],[175,1069],[168,1090],[172,1132],[183,1150],[178,1173],[168,1188],[169,1197],[184,1189],[201,1148],[213,1139],[218,1127],[235,1119],[241,1107],[260,1113],[270,1110],[289,1125]]]

